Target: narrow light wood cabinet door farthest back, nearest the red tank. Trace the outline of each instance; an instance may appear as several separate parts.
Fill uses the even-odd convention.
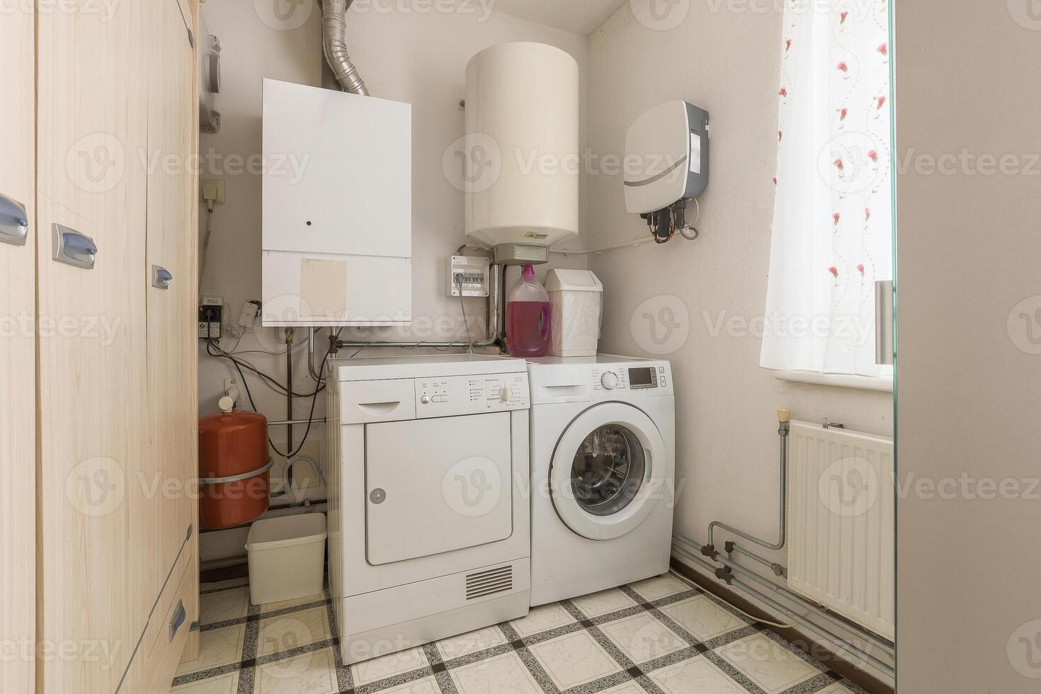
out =
[[[195,528],[198,470],[197,176],[195,51],[178,0],[150,5],[148,89],[148,455],[149,479],[164,491],[149,499],[156,538],[148,585],[159,595]],[[166,278],[172,278],[166,280]],[[166,288],[163,288],[166,287]],[[174,585],[173,588],[177,586]],[[192,620],[195,619],[193,615]]]

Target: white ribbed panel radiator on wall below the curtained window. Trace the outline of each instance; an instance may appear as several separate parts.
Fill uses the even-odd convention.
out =
[[[788,587],[893,639],[893,440],[792,421]]]

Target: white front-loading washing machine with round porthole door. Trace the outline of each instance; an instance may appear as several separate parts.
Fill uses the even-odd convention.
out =
[[[531,603],[668,570],[676,409],[668,362],[531,359]]]

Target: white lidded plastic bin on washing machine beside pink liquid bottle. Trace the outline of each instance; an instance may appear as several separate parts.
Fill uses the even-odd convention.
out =
[[[604,285],[587,269],[551,269],[545,289],[553,322],[550,354],[595,356],[604,316]]]

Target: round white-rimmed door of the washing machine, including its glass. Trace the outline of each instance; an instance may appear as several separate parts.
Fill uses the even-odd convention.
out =
[[[604,403],[564,431],[550,467],[557,515],[590,540],[613,540],[666,503],[670,466],[654,421],[625,403]]]

